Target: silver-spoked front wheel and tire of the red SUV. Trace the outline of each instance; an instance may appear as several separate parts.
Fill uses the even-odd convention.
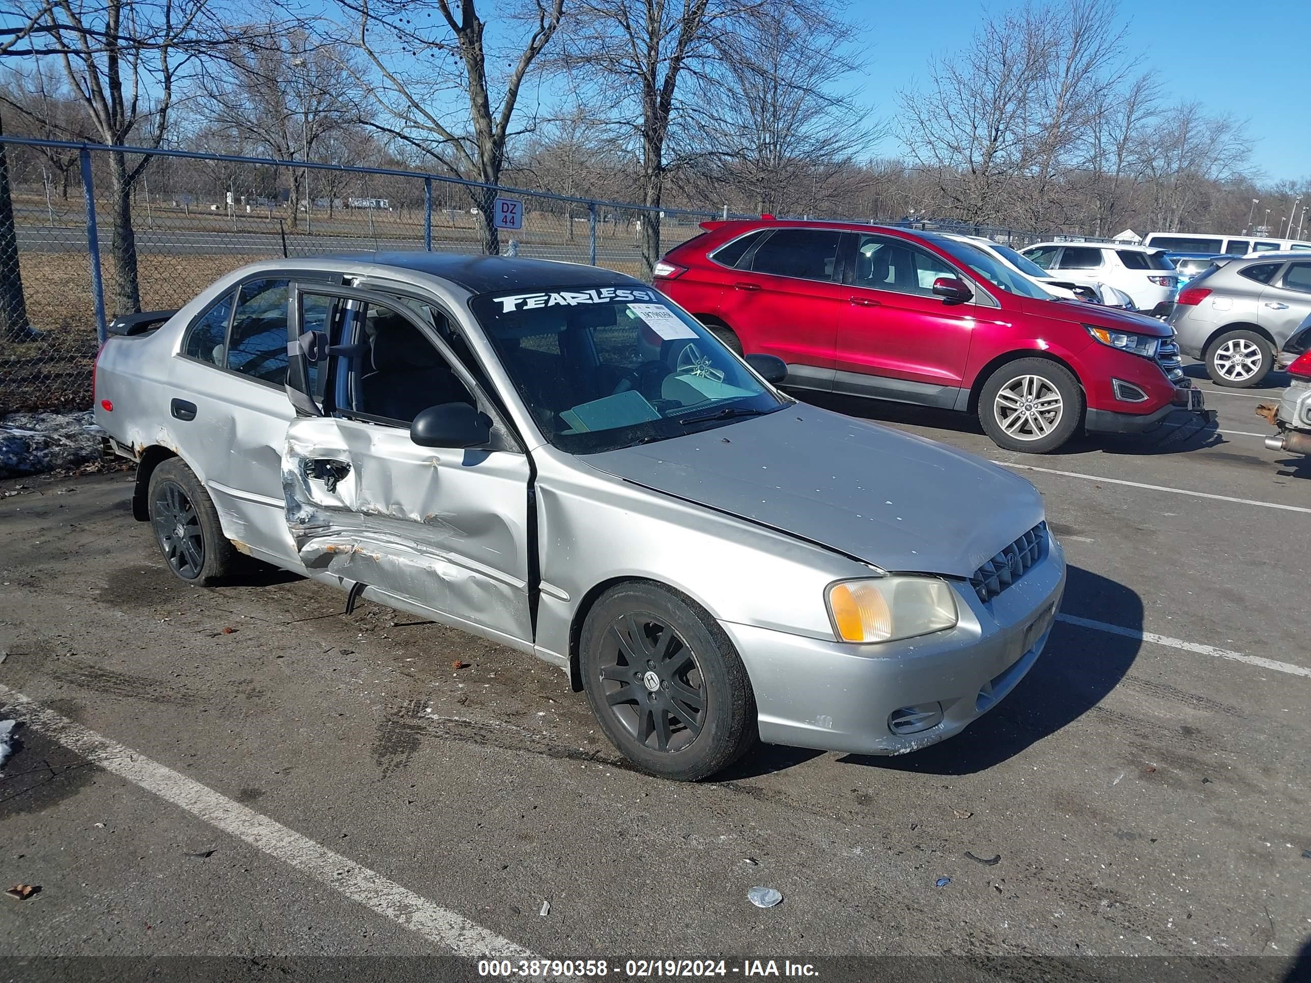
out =
[[[1074,374],[1045,358],[1021,358],[998,368],[979,393],[979,423],[1008,451],[1050,453],[1083,421],[1083,388]]]

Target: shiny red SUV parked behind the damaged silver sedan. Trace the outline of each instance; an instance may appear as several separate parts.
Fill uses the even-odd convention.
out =
[[[1173,330],[1055,300],[969,242],[818,222],[707,222],[656,286],[729,347],[777,355],[785,385],[978,413],[1012,451],[1080,427],[1137,433],[1202,412]]]

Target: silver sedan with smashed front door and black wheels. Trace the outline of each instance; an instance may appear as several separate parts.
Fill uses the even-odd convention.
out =
[[[950,737],[1065,588],[1028,481],[791,400],[621,274],[282,260],[123,332],[96,417],[178,577],[245,553],[535,655],[656,775]]]

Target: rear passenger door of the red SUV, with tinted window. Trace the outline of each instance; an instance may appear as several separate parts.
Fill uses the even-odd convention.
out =
[[[842,232],[776,228],[730,270],[724,320],[749,353],[777,355],[789,383],[827,388],[832,379],[838,318],[850,292],[842,284]]]

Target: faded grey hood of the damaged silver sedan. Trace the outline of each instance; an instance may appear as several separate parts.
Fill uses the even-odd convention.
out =
[[[970,577],[1042,522],[1004,468],[806,405],[582,460],[889,571]]]

